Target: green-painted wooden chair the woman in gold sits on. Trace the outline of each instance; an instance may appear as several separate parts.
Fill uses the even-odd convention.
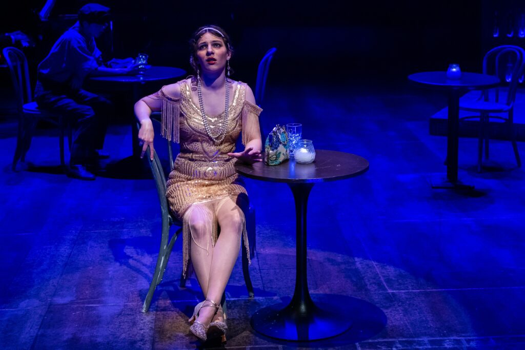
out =
[[[160,122],[160,113],[153,113],[151,116],[151,119],[153,121]],[[170,162],[170,171],[173,170],[173,150],[171,147],[171,142],[167,141],[167,149],[168,149],[168,155],[169,155],[169,162]],[[150,150],[148,149],[146,151],[146,154],[149,154]],[[159,283],[162,282],[162,278],[164,277],[164,272],[166,270],[166,264],[167,261],[170,258],[171,251],[173,249],[173,245],[177,239],[177,237],[182,232],[182,222],[178,219],[176,219],[171,213],[170,213],[170,207],[167,203],[166,198],[166,176],[164,173],[164,169],[162,167],[161,161],[157,153],[154,151],[154,157],[153,161],[150,160],[148,157],[148,160],[150,162],[151,172],[153,174],[153,179],[155,181],[155,185],[157,188],[157,193],[159,195],[159,201],[161,205],[161,217],[162,217],[162,235],[161,235],[161,246],[159,250],[159,256],[157,257],[157,263],[155,266],[155,272],[153,273],[153,279],[150,283],[150,288],[148,290],[148,294],[146,294],[146,298],[144,300],[144,305],[142,306],[142,312],[148,312],[150,309],[151,300],[153,298],[153,293],[155,292],[155,288]],[[175,233],[170,238],[170,228],[172,226],[177,227]],[[250,206],[249,213],[246,217],[246,229],[248,231],[248,241],[250,243],[250,255],[253,257],[255,253],[255,212]],[[248,295],[250,298],[253,298],[254,296],[254,288],[251,284],[250,274],[248,270],[248,254],[246,252],[246,249],[244,249],[244,237],[241,238],[241,252],[242,252],[242,261],[243,261],[243,275],[244,275],[244,282],[246,284],[246,289],[248,290]],[[185,287],[186,279],[181,274],[181,282],[180,286]],[[225,296],[223,295],[223,300],[221,301],[221,304],[223,306],[224,312],[226,312],[226,303],[225,303]]]

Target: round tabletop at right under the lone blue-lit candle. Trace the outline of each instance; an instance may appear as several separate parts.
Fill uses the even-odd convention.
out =
[[[448,79],[446,72],[421,72],[408,76],[409,80],[436,89],[487,89],[499,84],[498,77],[480,73],[461,72],[460,79]]]

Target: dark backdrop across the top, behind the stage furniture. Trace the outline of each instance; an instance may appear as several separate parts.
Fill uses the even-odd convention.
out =
[[[86,1],[57,1],[48,21],[35,13],[44,1],[13,3],[2,14],[1,29],[22,29],[41,35],[26,54],[45,57]],[[106,57],[150,55],[153,65],[190,71],[188,44],[192,32],[204,24],[222,26],[232,38],[235,78],[253,84],[258,61],[270,47],[276,82],[344,82],[347,79],[400,81],[421,70],[444,70],[459,63],[465,71],[479,71],[489,47],[522,45],[525,38],[506,37],[516,27],[525,4],[519,1],[221,1],[174,2],[100,1],[112,8],[113,44],[108,35],[99,46]],[[498,38],[492,37],[494,26]],[[111,48],[112,47],[112,48]]]

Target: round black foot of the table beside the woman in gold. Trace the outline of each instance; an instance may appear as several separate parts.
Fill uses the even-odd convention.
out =
[[[257,332],[286,341],[306,342],[340,335],[352,326],[348,297],[330,295],[329,301],[296,305],[279,303],[258,310],[250,324]]]

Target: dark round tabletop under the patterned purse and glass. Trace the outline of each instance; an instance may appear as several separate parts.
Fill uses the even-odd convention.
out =
[[[298,164],[292,160],[269,166],[264,162],[253,165],[237,164],[237,172],[248,178],[270,182],[315,183],[357,176],[369,168],[365,158],[355,154],[316,150],[316,160]]]

